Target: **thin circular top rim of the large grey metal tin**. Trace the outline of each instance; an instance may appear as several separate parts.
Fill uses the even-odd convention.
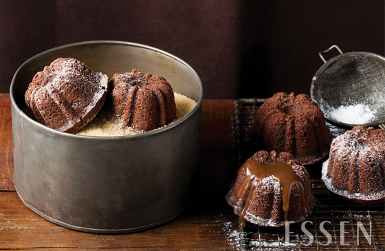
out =
[[[62,50],[64,48],[83,46],[83,45],[129,45],[129,46],[133,46],[133,47],[142,47],[144,49],[152,50],[154,52],[157,52],[157,53],[169,56],[170,58],[173,58],[175,61],[179,61],[179,63],[182,63],[183,65],[188,67],[188,69],[190,69],[190,71],[193,74],[195,74],[195,76],[197,76],[197,78],[199,78],[200,94],[199,94],[199,100],[197,101],[197,105],[195,105],[195,107],[188,114],[186,114],[186,116],[184,116],[180,120],[177,120],[173,124],[170,124],[170,125],[168,125],[166,127],[162,127],[162,128],[159,128],[159,129],[155,129],[153,131],[148,131],[146,133],[140,133],[140,134],[136,134],[136,135],[126,135],[126,136],[94,137],[94,136],[76,135],[76,134],[72,134],[72,133],[63,133],[61,131],[56,131],[55,129],[52,129],[50,127],[46,127],[45,125],[43,125],[43,124],[41,124],[41,123],[39,123],[39,122],[37,122],[35,120],[32,120],[32,118],[28,117],[23,111],[21,111],[20,107],[17,105],[16,101],[14,100],[13,87],[15,85],[15,77],[19,74],[19,72],[21,71],[21,69],[23,69],[23,67],[25,65],[28,65],[32,61],[36,60],[36,58],[39,58],[39,57],[41,57],[41,56],[43,56],[45,54],[49,54],[51,52],[56,52],[57,50]],[[63,136],[66,136],[66,137],[73,137],[73,138],[87,138],[87,140],[98,139],[98,140],[116,140],[116,141],[120,141],[120,140],[127,140],[129,138],[146,138],[146,137],[151,137],[151,135],[155,135],[157,133],[162,133],[163,131],[171,130],[174,127],[177,127],[179,124],[184,123],[186,120],[188,120],[188,118],[190,118],[192,116],[193,113],[195,113],[199,109],[199,107],[201,107],[201,103],[203,102],[203,83],[201,81],[201,78],[199,77],[199,74],[197,74],[195,69],[193,69],[190,65],[188,65],[188,63],[183,61],[181,58],[178,58],[177,56],[174,56],[173,54],[165,52],[164,50],[160,50],[160,49],[157,49],[155,47],[148,46],[148,45],[142,45],[140,43],[131,43],[131,42],[124,42],[124,41],[110,41],[110,40],[83,41],[83,42],[79,42],[79,43],[70,43],[70,44],[67,44],[67,45],[61,45],[61,46],[58,46],[58,47],[54,47],[54,48],[52,48],[50,50],[46,50],[45,52],[41,52],[39,54],[36,54],[35,56],[32,56],[32,58],[30,58],[27,61],[25,61],[19,67],[19,69],[17,69],[17,71],[15,72],[15,74],[14,74],[14,76],[12,78],[12,82],[11,82],[11,85],[10,85],[10,98],[11,98],[11,103],[14,104],[15,108],[17,109],[17,112],[19,113],[20,116],[23,117],[23,119],[32,121],[36,125],[36,127],[44,127],[45,130],[49,131],[50,133],[58,134],[58,135],[63,135]]]

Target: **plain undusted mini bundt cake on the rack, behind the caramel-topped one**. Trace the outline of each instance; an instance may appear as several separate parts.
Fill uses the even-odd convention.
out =
[[[292,153],[303,165],[329,153],[331,133],[324,113],[306,94],[274,94],[256,112],[254,127],[264,150]]]

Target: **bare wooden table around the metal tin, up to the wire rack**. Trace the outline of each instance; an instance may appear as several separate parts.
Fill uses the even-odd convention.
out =
[[[204,100],[201,187],[192,205],[177,219],[131,234],[90,234],[57,226],[21,202],[13,184],[10,95],[0,94],[0,249],[132,248],[176,250],[234,249],[225,232],[237,217],[224,199],[234,164],[234,100]],[[225,219],[225,221],[224,221]],[[227,223],[226,226],[224,224]]]

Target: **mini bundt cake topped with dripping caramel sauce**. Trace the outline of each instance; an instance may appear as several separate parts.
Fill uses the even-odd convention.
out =
[[[307,219],[316,204],[309,173],[290,153],[258,151],[239,168],[225,196],[234,213],[258,226],[281,227]]]

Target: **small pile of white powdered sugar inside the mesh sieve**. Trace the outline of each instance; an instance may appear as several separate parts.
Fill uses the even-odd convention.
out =
[[[329,115],[334,120],[345,124],[365,124],[372,122],[376,111],[373,111],[367,105],[348,105],[341,106],[330,111]]]

